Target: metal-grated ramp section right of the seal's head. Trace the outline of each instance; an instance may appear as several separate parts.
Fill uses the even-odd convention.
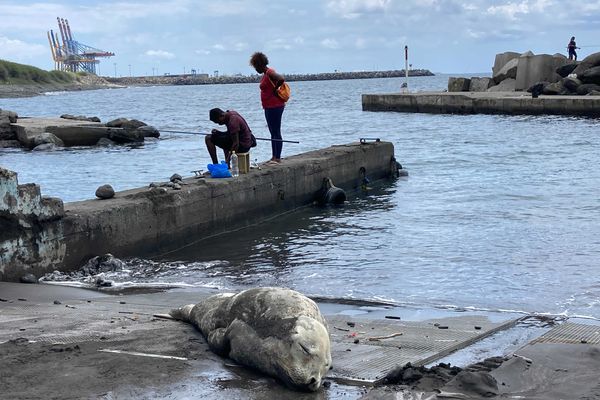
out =
[[[362,384],[376,383],[395,367],[409,362],[420,366],[439,360],[517,322],[492,322],[485,316],[419,322],[326,318],[333,358],[329,377]]]

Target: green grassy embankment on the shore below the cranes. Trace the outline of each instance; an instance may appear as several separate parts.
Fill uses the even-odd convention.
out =
[[[76,80],[76,75],[63,71],[44,71],[31,65],[18,64],[0,60],[0,83],[5,84],[52,84],[71,83]]]

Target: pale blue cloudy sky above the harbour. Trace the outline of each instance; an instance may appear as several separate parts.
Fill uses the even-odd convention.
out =
[[[54,68],[47,31],[115,53],[99,74],[250,75],[412,68],[489,73],[497,53],[600,52],[600,0],[0,0],[0,59]]]

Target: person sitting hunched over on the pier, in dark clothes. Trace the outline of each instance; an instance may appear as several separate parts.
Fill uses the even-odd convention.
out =
[[[217,147],[223,149],[225,161],[229,165],[231,153],[247,153],[251,147],[256,146],[256,138],[252,134],[246,120],[236,111],[223,111],[220,108],[213,108],[209,112],[209,118],[212,122],[225,125],[227,131],[213,129],[211,134],[206,136],[206,148],[213,164],[218,164]]]

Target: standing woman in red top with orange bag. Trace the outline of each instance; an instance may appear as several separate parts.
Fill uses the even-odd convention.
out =
[[[250,57],[250,65],[256,72],[263,74],[260,80],[260,101],[265,110],[265,119],[271,133],[271,149],[273,157],[268,164],[278,164],[281,162],[281,150],[283,142],[281,141],[281,116],[285,109],[285,101],[277,96],[276,89],[284,82],[283,76],[279,75],[273,68],[268,67],[269,59],[261,52],[256,52]]]

